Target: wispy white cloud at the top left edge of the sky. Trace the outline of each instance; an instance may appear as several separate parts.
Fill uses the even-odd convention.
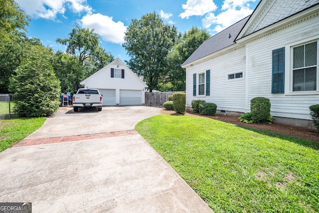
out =
[[[91,13],[92,8],[86,0],[15,0],[29,15],[46,19],[55,19],[58,13],[64,14],[66,8],[74,12],[86,11]]]

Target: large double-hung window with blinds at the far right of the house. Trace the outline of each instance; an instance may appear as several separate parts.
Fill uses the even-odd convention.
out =
[[[317,90],[317,41],[293,48],[293,92]]]

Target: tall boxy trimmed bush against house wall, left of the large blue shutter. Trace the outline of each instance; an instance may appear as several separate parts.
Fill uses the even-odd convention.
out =
[[[265,124],[271,122],[270,100],[264,97],[256,97],[250,101],[250,112],[254,123]]]

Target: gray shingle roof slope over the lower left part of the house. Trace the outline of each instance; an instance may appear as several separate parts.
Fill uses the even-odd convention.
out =
[[[193,52],[193,54],[191,54],[184,61],[182,66],[236,43],[235,39],[236,39],[237,35],[239,34],[240,30],[246,24],[249,17],[250,17],[250,15],[245,17],[244,19],[238,21],[237,23],[231,25],[230,27],[224,29],[223,31],[217,33],[216,35],[205,40]]]

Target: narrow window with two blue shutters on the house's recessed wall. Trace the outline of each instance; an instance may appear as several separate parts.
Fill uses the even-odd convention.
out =
[[[196,95],[210,95],[210,70],[193,74],[193,96]]]

